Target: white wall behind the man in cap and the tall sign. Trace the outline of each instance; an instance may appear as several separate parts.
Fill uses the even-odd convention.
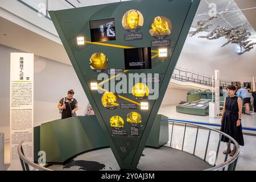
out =
[[[18,50],[0,45],[0,133],[5,133],[9,138],[9,96],[10,96],[10,53]],[[89,104],[84,90],[72,66],[45,59],[35,55],[34,75],[34,125],[60,119],[57,104],[61,98],[67,95],[69,89],[74,89],[75,98],[79,102],[78,115],[85,115]]]

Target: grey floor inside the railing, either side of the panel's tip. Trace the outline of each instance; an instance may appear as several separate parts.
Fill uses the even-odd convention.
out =
[[[119,171],[110,148],[86,152],[65,165],[48,167],[56,171]],[[170,147],[145,147],[137,166],[141,171],[201,171],[210,168],[204,160]]]

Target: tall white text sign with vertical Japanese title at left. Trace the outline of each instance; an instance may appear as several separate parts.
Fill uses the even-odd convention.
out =
[[[18,145],[34,161],[34,54],[11,53],[10,151],[11,170],[22,170]]]

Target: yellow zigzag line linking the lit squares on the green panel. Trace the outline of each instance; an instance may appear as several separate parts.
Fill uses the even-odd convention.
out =
[[[94,44],[94,45],[99,45],[99,46],[118,47],[118,48],[123,48],[123,49],[131,49],[131,48],[134,48],[134,47],[128,47],[128,46],[119,46],[119,45],[115,45],[115,44],[106,44],[106,43],[100,43],[100,42],[90,42],[90,41],[86,41],[86,40],[85,40],[84,43]],[[151,50],[151,52],[156,53],[156,55],[151,56],[151,59],[154,59],[155,57],[158,57],[159,51]],[[123,73],[126,73],[126,72],[129,72],[129,70],[123,71]],[[114,78],[116,78],[116,77],[118,77],[118,76],[119,76],[119,74],[110,77],[108,80],[105,80],[105,81],[100,82],[100,83],[98,84],[98,89],[103,90],[104,92],[109,92],[109,90],[106,90],[106,89],[104,89],[104,88],[101,88],[100,86],[103,85],[103,84],[105,84],[105,82],[108,82],[108,81],[110,81],[110,80],[112,80],[112,79],[114,79]],[[122,98],[123,100],[129,101],[129,102],[131,102],[131,103],[133,103],[133,104],[137,104],[137,105],[141,106],[141,104],[140,104],[139,102],[135,102],[135,101],[133,101],[133,100],[130,100],[129,98],[126,98],[126,97],[123,97],[123,96],[120,96],[120,95],[118,95],[118,97],[119,97],[119,98]]]

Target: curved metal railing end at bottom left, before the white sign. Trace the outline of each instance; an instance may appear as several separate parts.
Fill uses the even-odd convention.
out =
[[[30,166],[34,167],[35,169],[39,170],[39,171],[52,171],[51,169],[42,167],[38,164],[35,164],[33,162],[31,162],[31,160],[27,159],[26,156],[24,156],[24,152],[23,152],[23,148],[22,148],[22,143],[19,143],[18,146],[18,155],[19,155],[19,159],[20,159],[20,163],[22,165],[22,169],[23,171],[30,171]]]

